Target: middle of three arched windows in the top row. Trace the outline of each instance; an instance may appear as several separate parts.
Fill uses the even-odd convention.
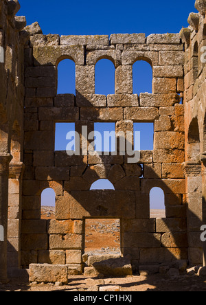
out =
[[[115,66],[108,59],[95,65],[95,94],[115,94]]]

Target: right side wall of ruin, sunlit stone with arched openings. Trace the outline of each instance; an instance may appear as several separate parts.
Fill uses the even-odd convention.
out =
[[[190,26],[181,30],[185,43],[185,178],[189,258],[202,262],[201,225],[205,224],[205,1],[196,0],[198,14],[191,13]]]

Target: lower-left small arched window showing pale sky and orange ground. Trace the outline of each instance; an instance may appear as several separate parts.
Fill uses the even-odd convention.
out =
[[[41,193],[41,219],[55,218],[56,194],[52,188],[46,188]]]

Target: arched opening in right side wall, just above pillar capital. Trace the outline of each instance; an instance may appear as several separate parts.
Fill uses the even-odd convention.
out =
[[[194,117],[190,123],[187,135],[187,160],[197,161],[201,153],[200,132],[198,118]]]

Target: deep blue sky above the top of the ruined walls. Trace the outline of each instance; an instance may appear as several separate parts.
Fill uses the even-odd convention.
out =
[[[187,27],[194,0],[19,0],[18,15],[38,21],[44,34],[82,35],[179,32]]]

